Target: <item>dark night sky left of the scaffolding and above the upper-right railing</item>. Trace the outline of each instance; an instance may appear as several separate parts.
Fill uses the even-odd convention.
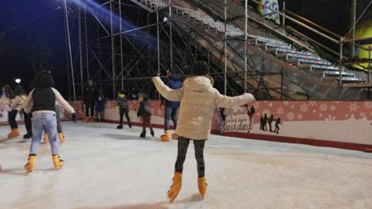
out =
[[[280,9],[282,1],[279,0]],[[357,14],[368,3],[369,0],[358,0]],[[14,86],[14,79],[21,78],[22,85],[29,90],[35,71],[43,68],[53,72],[58,78],[57,89],[64,95],[67,93],[63,9],[33,20],[62,4],[62,0],[0,0],[1,86]],[[350,27],[350,0],[287,0],[286,5],[339,35],[344,35]],[[371,14],[372,8],[362,20],[372,19]],[[11,30],[13,27],[17,28]]]

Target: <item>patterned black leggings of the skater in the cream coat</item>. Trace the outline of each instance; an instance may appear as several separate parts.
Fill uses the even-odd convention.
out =
[[[205,140],[193,140],[195,146],[195,159],[198,164],[198,177],[204,176],[205,164],[204,164],[204,145]],[[190,139],[185,137],[178,138],[178,155],[176,160],[175,171],[181,172],[183,170],[183,163],[186,159],[187,148],[189,147]]]

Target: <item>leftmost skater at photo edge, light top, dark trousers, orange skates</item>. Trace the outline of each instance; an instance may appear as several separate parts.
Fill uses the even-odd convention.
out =
[[[13,100],[16,98],[12,88],[10,86],[3,87],[3,95],[1,96],[0,102],[4,104],[5,110],[8,111],[8,123],[10,126],[10,130],[12,130],[7,137],[13,138],[19,136],[18,125],[15,122],[15,118],[17,115],[17,110],[12,110],[10,106],[13,103]],[[14,119],[13,119],[14,118]]]

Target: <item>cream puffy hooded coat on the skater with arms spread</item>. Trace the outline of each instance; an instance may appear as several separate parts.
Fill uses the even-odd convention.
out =
[[[229,108],[254,101],[251,94],[227,97],[212,86],[206,76],[192,76],[182,88],[170,89],[159,77],[153,82],[158,92],[170,101],[181,101],[176,134],[193,140],[206,140],[211,133],[211,122],[216,107]]]

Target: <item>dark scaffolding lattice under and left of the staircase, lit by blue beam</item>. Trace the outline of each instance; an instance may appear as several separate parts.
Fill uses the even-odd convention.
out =
[[[70,99],[83,99],[89,80],[105,98],[115,99],[117,91],[123,89],[129,98],[146,92],[157,99],[153,76],[164,76],[174,69],[186,78],[192,74],[193,63],[201,59],[208,62],[215,87],[226,95],[283,92],[283,86],[247,86],[247,79],[280,73],[248,72],[248,66],[243,71],[227,71],[226,53],[216,58],[198,46],[192,39],[196,30],[174,24],[171,6],[156,6],[155,12],[149,12],[130,0],[95,1],[99,4],[94,7],[88,2],[64,0]]]

